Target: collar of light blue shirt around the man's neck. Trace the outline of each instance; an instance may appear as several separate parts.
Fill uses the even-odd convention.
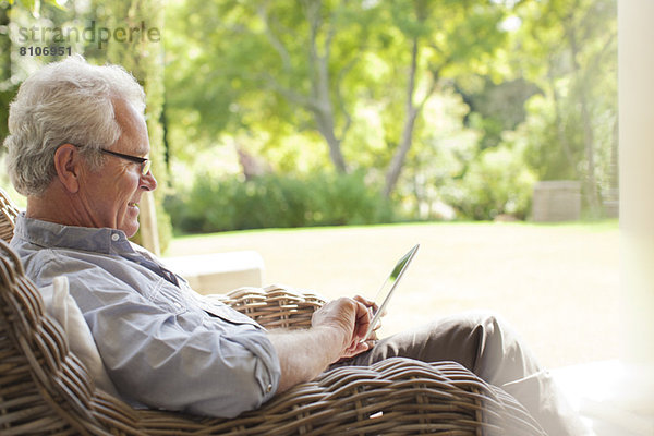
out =
[[[43,247],[83,250],[105,254],[132,254],[134,249],[122,230],[62,226],[56,222],[16,217],[14,234]]]

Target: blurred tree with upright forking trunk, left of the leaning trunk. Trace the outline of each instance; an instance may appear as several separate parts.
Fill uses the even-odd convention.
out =
[[[275,135],[275,124],[295,123],[302,129],[310,114],[334,167],[346,172],[341,143],[351,118],[343,80],[365,45],[365,11],[349,1],[299,3],[203,2],[204,13],[197,14],[199,4],[191,1],[182,13],[192,24],[182,32],[199,51],[192,62],[210,71],[201,84],[190,76],[171,77],[177,80],[169,82],[170,96],[184,105],[190,99],[175,95],[174,88],[180,84],[202,88],[206,97],[195,99],[196,108],[205,131],[214,133],[231,123],[233,130],[257,126]],[[197,70],[186,71],[193,75]],[[213,101],[203,105],[207,98]]]

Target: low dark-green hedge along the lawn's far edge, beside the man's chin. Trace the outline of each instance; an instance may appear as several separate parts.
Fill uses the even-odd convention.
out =
[[[368,187],[363,172],[304,178],[198,177],[189,192],[169,196],[166,208],[181,232],[391,222],[391,204]]]

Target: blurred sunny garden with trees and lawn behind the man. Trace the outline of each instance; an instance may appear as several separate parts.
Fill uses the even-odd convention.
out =
[[[421,242],[386,332],[483,308],[549,366],[618,356],[615,0],[4,0],[0,137],[74,53],[147,94],[152,250],[374,296]]]

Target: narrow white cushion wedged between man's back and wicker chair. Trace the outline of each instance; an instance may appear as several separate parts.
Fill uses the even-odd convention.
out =
[[[46,312],[61,325],[70,350],[84,363],[96,387],[116,396],[116,387],[105,370],[90,329],[69,293],[68,277],[55,278],[52,284],[40,288],[39,292],[46,303]]]

